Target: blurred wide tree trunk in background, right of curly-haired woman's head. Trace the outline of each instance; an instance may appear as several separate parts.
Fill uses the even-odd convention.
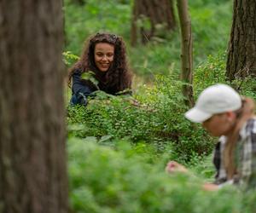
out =
[[[138,28],[142,43],[153,37],[162,37],[175,27],[172,0],[135,0],[131,20],[131,45],[138,40]]]

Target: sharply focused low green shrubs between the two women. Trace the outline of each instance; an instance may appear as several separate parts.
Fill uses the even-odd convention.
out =
[[[173,88],[169,86],[172,79],[161,80],[167,83],[166,90],[151,88],[147,101],[141,100],[139,104],[131,97],[101,92],[89,101],[87,107],[69,107],[69,135],[79,138],[94,136],[102,142],[116,139],[135,144],[145,142],[154,144],[159,152],[172,144],[179,158],[184,161],[195,153],[210,153],[212,139],[200,125],[191,124],[183,117],[187,107],[177,90],[180,88],[175,83],[172,83]]]

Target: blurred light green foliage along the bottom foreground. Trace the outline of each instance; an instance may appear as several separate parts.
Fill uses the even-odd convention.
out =
[[[70,205],[74,212],[253,212],[255,193],[233,187],[202,190],[193,175],[167,175],[166,162],[149,164],[124,141],[115,149],[96,142],[68,141]],[[150,156],[148,157],[150,158]]]

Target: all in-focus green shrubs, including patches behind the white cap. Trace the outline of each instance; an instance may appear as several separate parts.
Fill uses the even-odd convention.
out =
[[[225,83],[224,55],[209,56],[195,70],[195,97],[213,83]],[[183,114],[188,110],[181,93],[182,83],[174,74],[156,76],[150,87],[143,85],[134,95],[108,95],[102,91],[87,107],[68,107],[69,135],[96,137],[102,142],[125,139],[132,143],[154,144],[159,152],[172,144],[177,158],[188,161],[191,156],[212,152],[213,140],[192,124]],[[203,80],[202,80],[203,79]],[[232,84],[243,95],[255,98],[255,80],[247,78]]]

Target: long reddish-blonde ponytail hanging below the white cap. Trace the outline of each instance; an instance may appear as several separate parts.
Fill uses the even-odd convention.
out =
[[[242,98],[242,107],[235,112],[236,123],[233,127],[232,134],[227,139],[223,153],[224,168],[226,170],[228,180],[232,179],[232,177],[237,173],[234,153],[239,132],[242,125],[245,124],[249,118],[253,117],[254,109],[255,105],[253,99]]]

